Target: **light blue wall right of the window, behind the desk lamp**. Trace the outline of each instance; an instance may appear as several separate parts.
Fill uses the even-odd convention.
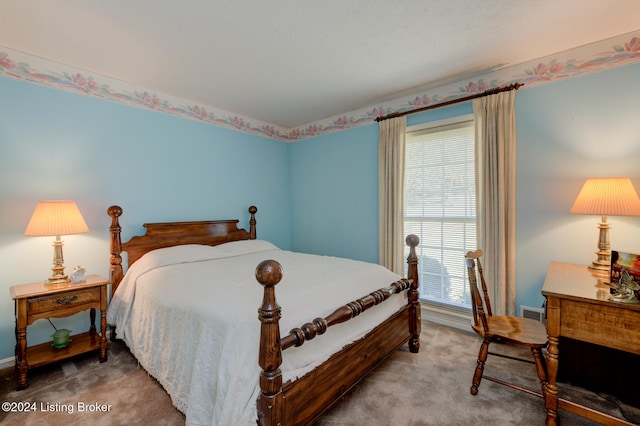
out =
[[[585,179],[630,177],[640,191],[639,76],[635,64],[517,94],[519,304],[540,306],[551,260],[596,259],[600,217],[569,213]],[[608,222],[612,249],[640,253],[640,218]]]

